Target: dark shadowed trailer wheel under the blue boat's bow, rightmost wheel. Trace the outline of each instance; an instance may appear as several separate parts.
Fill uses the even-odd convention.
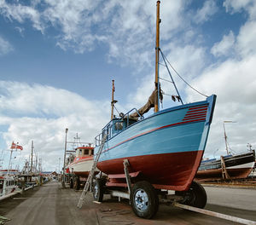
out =
[[[175,194],[183,196],[183,200],[180,202],[183,205],[190,205],[201,209],[207,205],[206,190],[198,182],[192,182],[188,191],[175,192]]]

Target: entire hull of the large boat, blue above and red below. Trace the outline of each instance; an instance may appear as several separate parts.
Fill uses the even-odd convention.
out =
[[[129,172],[139,172],[138,179],[156,188],[187,190],[206,147],[214,102],[212,95],[132,124],[106,141],[97,168],[107,175],[124,174],[128,159]]]

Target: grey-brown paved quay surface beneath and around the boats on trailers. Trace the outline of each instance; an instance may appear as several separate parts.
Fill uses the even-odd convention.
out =
[[[256,189],[205,187],[206,209],[256,221]],[[134,215],[127,200],[118,202],[104,196],[102,204],[93,203],[88,193],[79,210],[81,191],[60,189],[60,183],[49,182],[35,187],[15,199],[0,202],[0,216],[9,218],[7,225],[66,225],[66,224],[239,224],[193,211],[185,211],[171,205],[160,205],[151,220]]]

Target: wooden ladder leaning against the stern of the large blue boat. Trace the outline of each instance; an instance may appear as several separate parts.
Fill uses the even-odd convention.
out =
[[[89,187],[91,186],[91,183],[92,183],[92,178],[94,176],[94,172],[96,170],[96,165],[97,165],[97,162],[98,160],[100,159],[100,156],[101,156],[101,153],[102,153],[102,149],[104,147],[104,144],[107,140],[107,136],[103,136],[102,138],[102,143],[101,143],[101,146],[100,146],[100,149],[99,151],[96,153],[96,159],[93,161],[93,165],[92,165],[92,168],[90,170],[90,174],[87,178],[87,181],[85,182],[85,185],[84,185],[84,190],[80,196],[80,199],[79,199],[79,204],[78,204],[78,208],[81,209],[82,208],[82,205],[84,203],[84,198],[85,198],[85,194],[89,191]]]

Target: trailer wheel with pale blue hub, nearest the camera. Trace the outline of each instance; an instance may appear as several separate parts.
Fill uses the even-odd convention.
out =
[[[131,207],[134,213],[142,218],[150,219],[158,211],[159,198],[149,182],[137,182],[131,188]]]

